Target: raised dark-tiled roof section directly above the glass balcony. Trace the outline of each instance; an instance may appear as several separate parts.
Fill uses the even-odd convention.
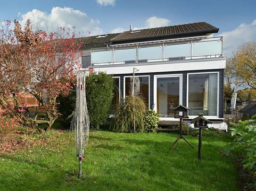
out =
[[[166,26],[166,27],[157,27],[151,29],[141,29],[134,31],[124,31],[120,35],[111,39],[111,41],[124,41],[128,39],[138,39],[138,38],[153,38],[153,37],[163,37],[163,36],[174,36],[181,34],[191,34],[191,33],[200,33],[200,32],[208,32],[208,33],[216,33],[219,31],[218,28],[205,23],[189,23],[189,24],[181,24],[174,26]],[[131,33],[133,32],[133,33]]]

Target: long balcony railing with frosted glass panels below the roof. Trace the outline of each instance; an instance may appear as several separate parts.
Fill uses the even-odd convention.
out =
[[[91,65],[222,57],[222,37],[91,49]]]

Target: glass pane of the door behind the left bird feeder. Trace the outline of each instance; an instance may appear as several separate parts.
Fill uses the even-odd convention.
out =
[[[180,77],[157,78],[157,114],[173,115],[180,102]]]

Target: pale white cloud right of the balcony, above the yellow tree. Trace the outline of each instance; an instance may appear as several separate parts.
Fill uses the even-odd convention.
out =
[[[256,41],[256,20],[250,24],[242,23],[235,30],[218,36],[223,36],[223,55],[230,57],[237,51],[238,46],[247,41]]]

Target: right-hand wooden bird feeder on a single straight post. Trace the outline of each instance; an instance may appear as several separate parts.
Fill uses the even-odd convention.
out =
[[[202,129],[208,128],[208,123],[211,123],[208,119],[203,117],[203,113],[199,113],[199,116],[192,119],[191,124],[194,124],[194,128],[199,128],[199,141],[198,141],[198,160],[201,160],[201,145],[202,145]]]

